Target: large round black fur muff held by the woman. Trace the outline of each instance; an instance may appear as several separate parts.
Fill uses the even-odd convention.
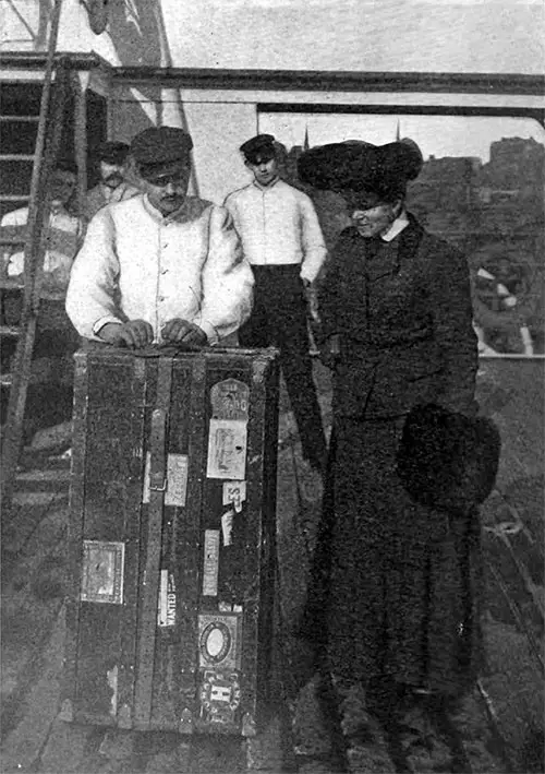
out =
[[[491,419],[419,405],[405,418],[398,474],[416,502],[448,512],[468,511],[491,493],[500,450]]]

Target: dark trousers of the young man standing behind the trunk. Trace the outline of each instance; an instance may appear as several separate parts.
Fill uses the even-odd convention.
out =
[[[277,346],[280,366],[299,427],[303,456],[320,464],[326,439],[308,354],[306,299],[299,264],[252,266],[254,308],[239,330],[243,347]]]

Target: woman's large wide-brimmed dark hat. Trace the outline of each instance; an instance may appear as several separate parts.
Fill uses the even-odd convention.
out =
[[[319,145],[299,158],[299,177],[315,188],[341,193],[353,210],[404,195],[424,163],[412,140],[373,145],[361,140]]]

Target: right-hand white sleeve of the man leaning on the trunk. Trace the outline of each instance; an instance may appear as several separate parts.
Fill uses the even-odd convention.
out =
[[[208,255],[203,266],[203,301],[194,322],[216,344],[237,331],[250,317],[254,275],[243,259],[231,214],[213,206],[208,231]]]

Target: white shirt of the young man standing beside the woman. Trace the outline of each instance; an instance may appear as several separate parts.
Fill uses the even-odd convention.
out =
[[[306,193],[280,179],[265,188],[254,181],[230,193],[223,205],[233,216],[250,263],[300,263],[301,277],[316,279],[327,251]]]

